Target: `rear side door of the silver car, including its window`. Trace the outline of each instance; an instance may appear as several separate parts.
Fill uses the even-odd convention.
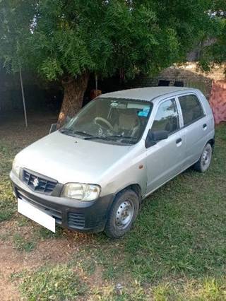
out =
[[[206,113],[198,97],[189,93],[178,97],[183,117],[183,129],[186,135],[186,151],[184,167],[196,163],[206,144],[208,123]]]

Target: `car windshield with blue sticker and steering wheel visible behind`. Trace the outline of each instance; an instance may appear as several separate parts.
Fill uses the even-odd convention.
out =
[[[142,100],[97,98],[61,132],[97,142],[135,144],[143,134],[152,107],[151,102]]]

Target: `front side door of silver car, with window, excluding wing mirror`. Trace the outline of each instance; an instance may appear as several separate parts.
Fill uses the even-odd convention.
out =
[[[157,189],[183,169],[185,135],[180,130],[177,102],[160,102],[151,131],[168,131],[169,137],[147,148],[147,194]]]

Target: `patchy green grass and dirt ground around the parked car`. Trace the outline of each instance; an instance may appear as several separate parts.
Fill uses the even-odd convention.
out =
[[[17,259],[2,277],[0,269],[0,287],[15,300],[226,300],[226,124],[216,129],[210,170],[186,170],[155,191],[121,240],[53,235],[19,216],[8,172],[38,135],[0,137],[0,260]]]

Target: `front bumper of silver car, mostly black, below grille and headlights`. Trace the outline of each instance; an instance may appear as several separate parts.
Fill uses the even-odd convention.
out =
[[[13,172],[11,172],[10,177],[16,198],[25,199],[40,208],[55,218],[57,225],[81,232],[101,232],[104,230],[114,194],[100,196],[95,201],[77,201],[36,193],[31,191]]]

